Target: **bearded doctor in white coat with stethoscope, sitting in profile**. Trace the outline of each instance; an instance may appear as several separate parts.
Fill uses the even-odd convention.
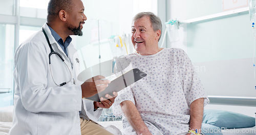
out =
[[[97,108],[109,108],[117,94],[100,103],[82,99],[103,91],[110,81],[100,80],[103,76],[82,84],[77,80],[79,59],[70,35],[82,35],[83,11],[81,0],[50,0],[47,23],[17,48],[9,134],[112,134],[95,121],[102,111]]]

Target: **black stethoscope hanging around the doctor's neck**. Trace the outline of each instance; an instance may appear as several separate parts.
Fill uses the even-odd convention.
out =
[[[70,71],[70,69],[69,69],[69,66],[67,65],[67,63],[66,63],[65,60],[63,59],[63,57],[62,57],[59,53],[55,52],[55,51],[52,49],[52,45],[51,45],[51,43],[50,43],[50,41],[49,41],[49,38],[48,38],[48,36],[47,36],[47,34],[46,34],[44,28],[42,28],[42,32],[44,32],[44,34],[45,34],[45,36],[46,36],[46,39],[47,39],[47,42],[48,42],[48,44],[49,44],[49,47],[50,47],[50,49],[51,49],[51,53],[49,54],[49,65],[50,65],[50,72],[51,72],[52,80],[54,81],[54,83],[55,83],[57,86],[63,86],[63,85],[65,85],[65,84],[67,84],[67,83],[69,83],[69,82],[71,81],[71,79],[72,79],[71,71]],[[58,55],[59,58],[60,58],[60,59],[65,63],[65,65],[68,67],[69,73],[70,73],[70,80],[69,80],[68,82],[63,82],[63,83],[60,83],[60,84],[57,84],[57,83],[55,82],[55,80],[54,80],[54,78],[53,78],[53,75],[52,75],[52,69],[51,69],[51,55],[52,55],[52,54]]]

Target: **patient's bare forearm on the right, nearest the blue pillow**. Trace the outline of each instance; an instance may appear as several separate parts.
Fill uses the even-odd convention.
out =
[[[204,98],[197,99],[190,104],[189,130],[201,129],[204,113]]]

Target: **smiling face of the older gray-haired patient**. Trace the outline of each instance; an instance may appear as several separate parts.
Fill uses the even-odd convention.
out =
[[[132,42],[134,49],[141,55],[158,52],[160,30],[154,31],[149,16],[143,16],[133,22]]]

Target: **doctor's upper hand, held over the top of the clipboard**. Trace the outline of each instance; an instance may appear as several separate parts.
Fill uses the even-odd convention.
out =
[[[83,82],[81,85],[82,98],[92,97],[104,91],[110,83],[110,80],[104,80],[104,78],[104,76],[95,76]]]

